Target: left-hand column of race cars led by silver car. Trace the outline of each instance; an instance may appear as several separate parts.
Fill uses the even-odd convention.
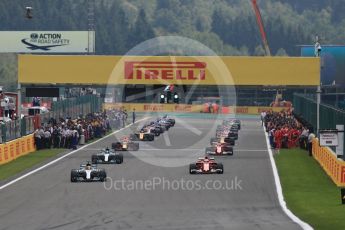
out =
[[[143,125],[137,132],[124,136],[112,143],[112,149],[108,147],[91,156],[91,162],[87,161],[78,169],[71,170],[71,182],[104,182],[107,179],[105,169],[97,167],[98,164],[122,164],[123,154],[120,151],[138,151],[139,142],[153,141],[155,137],[168,131],[175,125],[175,119],[167,115],[157,118],[155,121]]]

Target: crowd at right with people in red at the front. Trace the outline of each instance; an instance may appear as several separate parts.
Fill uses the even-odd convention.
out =
[[[261,120],[272,148],[279,150],[300,146],[311,153],[312,139],[315,137],[313,130],[299,122],[290,110],[262,112]]]

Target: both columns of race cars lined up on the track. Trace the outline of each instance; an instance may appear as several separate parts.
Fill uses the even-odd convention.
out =
[[[71,170],[71,182],[104,182],[107,179],[105,169],[98,168],[98,164],[122,164],[123,154],[121,151],[138,151],[139,141],[154,141],[155,137],[168,131],[175,125],[175,119],[167,115],[157,118],[137,132],[124,136],[112,143],[111,149],[105,148],[93,154],[91,162],[87,161],[80,165],[79,169]],[[223,164],[215,160],[215,156],[234,154],[233,146],[238,139],[241,129],[241,121],[238,119],[225,119],[217,126],[215,137],[211,138],[210,146],[205,149],[205,156],[197,159],[189,165],[190,174],[223,174]]]

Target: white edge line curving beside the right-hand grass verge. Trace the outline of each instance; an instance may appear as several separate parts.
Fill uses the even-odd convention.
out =
[[[301,228],[303,228],[304,230],[312,230],[313,228],[307,224],[306,222],[302,221],[300,218],[298,218],[297,216],[295,216],[295,214],[293,214],[291,212],[290,209],[287,208],[286,206],[286,202],[284,200],[284,196],[283,196],[283,190],[282,190],[282,186],[280,183],[280,178],[279,178],[279,174],[278,174],[278,170],[277,170],[277,166],[276,166],[276,162],[274,161],[273,158],[273,152],[270,146],[270,142],[268,139],[268,135],[267,132],[265,131],[265,128],[263,129],[264,133],[265,133],[265,137],[266,137],[266,144],[267,144],[267,150],[270,156],[270,162],[272,165],[272,170],[273,170],[273,176],[274,176],[274,182],[276,184],[276,190],[277,190],[277,195],[278,195],[278,200],[279,200],[279,204],[281,206],[281,208],[283,209],[284,213],[296,224],[298,224]]]

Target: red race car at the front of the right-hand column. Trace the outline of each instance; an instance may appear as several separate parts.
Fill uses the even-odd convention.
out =
[[[223,164],[208,156],[199,158],[196,163],[189,165],[190,174],[223,174],[223,171]]]

